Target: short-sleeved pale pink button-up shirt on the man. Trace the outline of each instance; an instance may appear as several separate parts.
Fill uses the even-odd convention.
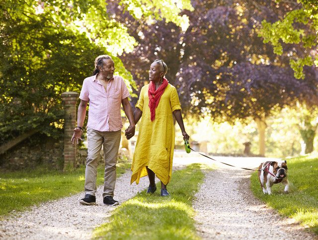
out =
[[[79,98],[89,102],[87,127],[101,132],[120,130],[123,127],[121,100],[128,96],[128,88],[119,76],[109,80],[107,91],[96,75],[86,78]]]

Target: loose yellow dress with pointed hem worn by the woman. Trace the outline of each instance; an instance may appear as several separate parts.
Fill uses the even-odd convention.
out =
[[[133,171],[131,183],[136,181],[138,184],[141,177],[147,176],[146,166],[148,166],[166,185],[171,179],[174,150],[172,112],[181,109],[181,105],[177,90],[168,84],[156,108],[155,120],[151,121],[148,87],[149,84],[142,87],[136,105],[143,115],[131,165]]]

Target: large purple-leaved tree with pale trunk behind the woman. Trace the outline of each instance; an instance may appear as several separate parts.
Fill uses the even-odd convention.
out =
[[[288,58],[277,58],[272,46],[258,37],[261,21],[276,19],[286,9],[275,9],[270,0],[197,0],[192,5],[195,10],[186,12],[190,26],[185,32],[172,23],[149,26],[128,18],[134,26],[129,31],[139,36],[139,44],[123,55],[123,62],[137,85],[143,85],[150,62],[164,59],[168,80],[177,86],[189,114],[210,115],[218,122],[255,119],[264,155],[262,136],[273,109],[317,92],[313,74],[307,82],[296,80]]]

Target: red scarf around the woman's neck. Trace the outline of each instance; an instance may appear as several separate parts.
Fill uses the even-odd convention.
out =
[[[149,96],[149,108],[151,113],[151,121],[155,120],[156,108],[158,107],[161,95],[164,92],[164,88],[168,85],[168,80],[163,78],[161,85],[156,89],[156,85],[153,81],[149,83],[148,96]]]

